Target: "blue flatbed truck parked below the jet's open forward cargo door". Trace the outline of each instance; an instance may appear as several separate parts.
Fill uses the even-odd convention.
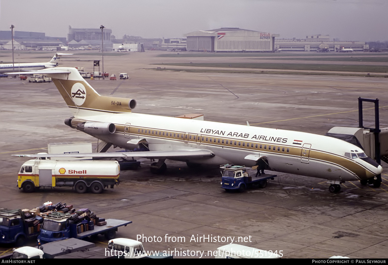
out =
[[[238,190],[243,192],[248,187],[265,188],[267,179],[274,179],[277,175],[262,174],[261,176],[248,176],[245,166],[226,164],[221,165],[222,173],[221,187],[225,191]]]

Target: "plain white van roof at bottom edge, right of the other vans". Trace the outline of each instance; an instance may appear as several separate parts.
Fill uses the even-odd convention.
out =
[[[283,253],[275,253],[273,251],[259,250],[239,244],[227,244],[217,248],[217,256],[215,258],[281,258]]]

